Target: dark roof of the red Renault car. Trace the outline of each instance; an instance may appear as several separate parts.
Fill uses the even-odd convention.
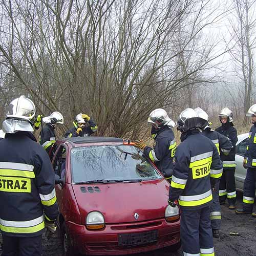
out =
[[[63,138],[61,141],[70,142],[74,146],[80,144],[87,144],[87,143],[123,143],[123,139],[115,138],[115,137],[96,137],[96,136],[87,136],[87,137],[73,137],[73,138]],[[126,141],[126,140],[125,140]]]

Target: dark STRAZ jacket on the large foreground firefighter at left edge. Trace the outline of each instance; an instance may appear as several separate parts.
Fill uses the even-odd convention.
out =
[[[6,134],[0,152],[0,229],[7,236],[39,236],[44,213],[49,220],[58,216],[50,159],[29,132]]]

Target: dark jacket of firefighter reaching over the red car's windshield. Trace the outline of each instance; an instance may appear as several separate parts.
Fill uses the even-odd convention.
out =
[[[152,134],[155,135],[156,145],[154,148],[146,146],[143,153],[155,162],[165,178],[170,178],[172,177],[173,158],[176,151],[176,140],[173,130],[166,125],[157,130],[157,133]]]

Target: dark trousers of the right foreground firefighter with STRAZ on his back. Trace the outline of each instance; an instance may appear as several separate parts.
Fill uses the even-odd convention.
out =
[[[209,205],[196,210],[182,208],[180,235],[184,256],[215,255],[209,217]]]

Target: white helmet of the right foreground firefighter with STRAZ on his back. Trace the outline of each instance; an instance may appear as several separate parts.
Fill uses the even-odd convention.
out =
[[[204,121],[205,122],[205,121]],[[198,117],[194,109],[183,110],[177,120],[177,130],[187,132],[202,127],[202,119]]]

